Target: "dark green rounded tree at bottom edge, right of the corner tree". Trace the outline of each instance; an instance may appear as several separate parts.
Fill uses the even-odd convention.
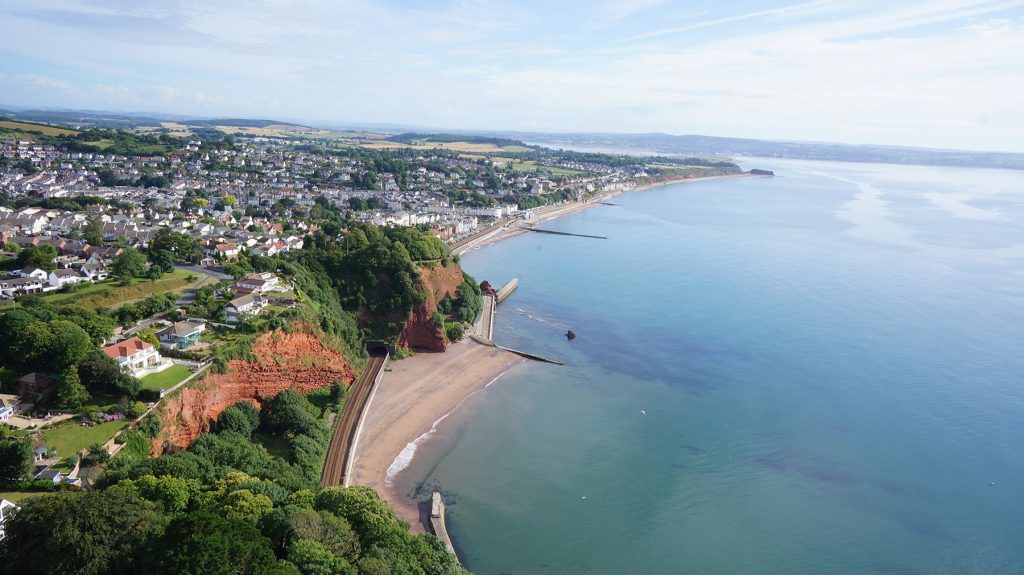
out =
[[[156,572],[167,574],[257,575],[278,563],[258,529],[209,512],[172,521],[153,555],[159,558]]]

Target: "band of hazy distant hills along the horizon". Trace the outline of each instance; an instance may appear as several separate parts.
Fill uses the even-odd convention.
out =
[[[921,147],[853,145],[828,142],[773,141],[748,138],[720,138],[716,136],[662,133],[606,134],[606,133],[543,133],[508,131],[437,130],[422,126],[366,123],[345,124],[332,122],[329,126],[310,127],[292,122],[261,119],[210,119],[171,114],[123,114],[76,109],[28,109],[11,106],[0,109],[0,115],[29,122],[72,125],[75,127],[123,128],[169,130],[180,133],[191,129],[203,133],[214,127],[241,136],[270,136],[304,138],[315,135],[333,137],[333,130],[357,129],[390,134],[389,140],[403,140],[431,134],[433,139],[452,135],[465,140],[468,137],[503,140],[522,140],[530,144],[581,150],[614,151],[638,154],[681,154],[688,157],[756,156],[794,160],[827,160],[837,162],[876,162],[882,164],[914,164],[924,166],[951,166],[962,168],[1002,168],[1024,170],[1024,153],[1001,151],[967,151]],[[325,124],[325,123],[310,123]],[[326,128],[326,130],[324,129]],[[439,141],[439,140],[438,140]]]

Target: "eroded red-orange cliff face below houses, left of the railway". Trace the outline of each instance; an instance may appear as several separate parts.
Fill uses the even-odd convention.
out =
[[[193,387],[182,389],[160,409],[163,441],[154,445],[154,455],[187,447],[209,431],[229,405],[246,400],[257,407],[269,397],[295,388],[309,392],[335,381],[351,384],[355,379],[345,357],[325,346],[302,324],[288,334],[282,329],[260,336],[253,345],[256,361],[236,359],[225,373],[209,373]]]

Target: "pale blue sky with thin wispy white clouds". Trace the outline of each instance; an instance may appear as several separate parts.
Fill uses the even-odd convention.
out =
[[[1024,0],[0,0],[4,104],[1024,151]]]

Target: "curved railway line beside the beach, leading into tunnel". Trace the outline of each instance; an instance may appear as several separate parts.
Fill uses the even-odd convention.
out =
[[[352,459],[358,445],[362,416],[373,397],[377,382],[383,372],[388,354],[376,354],[370,357],[366,368],[359,373],[349,389],[348,400],[341,413],[341,421],[334,429],[331,445],[324,461],[324,473],[321,475],[321,485],[347,486],[351,475]]]

